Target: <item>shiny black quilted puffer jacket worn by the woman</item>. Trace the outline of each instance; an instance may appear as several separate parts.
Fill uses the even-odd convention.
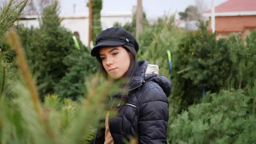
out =
[[[129,85],[128,101],[119,106],[118,114],[111,118],[109,129],[114,144],[123,144],[124,139],[138,137],[139,144],[166,144],[168,122],[167,97],[172,84],[163,76],[145,76],[148,62],[139,61],[139,68]],[[117,105],[117,104],[114,104]],[[103,144],[105,129],[97,132],[95,144]]]

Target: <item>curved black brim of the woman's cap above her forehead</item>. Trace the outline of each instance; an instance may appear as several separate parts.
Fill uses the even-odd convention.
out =
[[[106,46],[122,46],[125,43],[118,42],[118,41],[105,41],[105,42],[100,42],[98,43],[94,48],[92,48],[91,55],[92,56],[97,56],[98,51],[101,47],[106,47]]]

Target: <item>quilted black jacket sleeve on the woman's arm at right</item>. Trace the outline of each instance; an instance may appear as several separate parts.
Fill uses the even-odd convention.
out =
[[[139,110],[139,144],[167,144],[168,107],[167,96],[159,85],[144,93]]]

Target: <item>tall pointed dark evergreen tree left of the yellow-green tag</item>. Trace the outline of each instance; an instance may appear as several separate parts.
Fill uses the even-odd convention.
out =
[[[39,53],[43,54],[43,59],[39,61],[42,63],[35,67],[40,72],[38,75],[39,87],[45,85],[40,89],[41,94],[54,93],[53,87],[67,72],[67,66],[62,59],[69,54],[70,49],[75,49],[71,33],[60,25],[58,11],[57,2],[43,10],[40,25],[40,32],[43,35],[40,38],[44,46],[40,47],[42,53]]]

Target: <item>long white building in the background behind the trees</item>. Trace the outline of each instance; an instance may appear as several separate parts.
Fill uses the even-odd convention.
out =
[[[39,27],[39,20],[37,15],[23,16],[18,23],[24,24],[26,27]],[[89,14],[74,14],[74,15],[60,15],[62,26],[70,29],[72,33],[78,32],[80,40],[85,46],[88,46],[89,37]],[[108,12],[101,13],[102,29],[112,27],[115,22],[122,25],[132,21],[132,12]],[[91,43],[92,44],[92,43]]]

